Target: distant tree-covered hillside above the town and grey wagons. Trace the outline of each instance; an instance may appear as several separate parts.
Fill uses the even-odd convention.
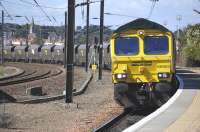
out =
[[[1,26],[1,25],[0,25]],[[29,32],[29,26],[27,25],[18,25],[18,24],[5,24],[5,31],[12,32],[14,38],[26,38],[27,32]],[[28,30],[27,30],[28,28]],[[47,39],[50,33],[56,33],[58,36],[64,37],[64,26],[40,26],[34,25],[33,32],[38,38]],[[109,27],[104,27],[104,40],[108,40],[112,30]],[[85,43],[86,37],[86,27],[76,31],[75,33],[75,43],[83,44]],[[93,43],[94,37],[99,38],[99,26],[90,25],[90,43]]]

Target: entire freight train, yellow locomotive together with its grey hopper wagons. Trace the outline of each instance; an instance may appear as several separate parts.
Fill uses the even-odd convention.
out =
[[[90,63],[98,64],[98,46],[89,46]],[[85,65],[86,46],[74,46],[74,64]],[[64,46],[6,46],[7,61],[63,63]],[[124,107],[160,106],[175,91],[176,46],[164,26],[140,18],[122,25],[103,44],[103,66],[110,68],[114,98]]]

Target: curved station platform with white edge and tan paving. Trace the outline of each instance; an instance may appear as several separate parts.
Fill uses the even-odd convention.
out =
[[[200,69],[179,67],[177,75],[181,84],[175,95],[124,132],[200,131]]]

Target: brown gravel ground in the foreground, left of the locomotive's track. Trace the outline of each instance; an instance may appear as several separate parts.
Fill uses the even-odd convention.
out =
[[[74,97],[73,102],[6,104],[5,113],[10,115],[11,122],[0,131],[88,132],[123,110],[113,100],[113,85],[108,71],[103,72],[102,81],[96,81],[94,77],[85,93]],[[2,109],[3,105],[0,104]]]

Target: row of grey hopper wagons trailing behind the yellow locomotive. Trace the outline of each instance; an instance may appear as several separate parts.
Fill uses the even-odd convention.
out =
[[[89,46],[89,60],[90,63],[97,64],[98,49],[97,46]],[[95,47],[95,48],[94,48]],[[79,66],[85,65],[86,55],[85,44],[74,46],[74,64]],[[49,64],[63,64],[64,63],[64,46],[63,45],[29,45],[29,46],[5,46],[4,60],[12,62],[35,62],[35,63],[49,63]],[[110,67],[110,50],[109,44],[103,44],[103,65]],[[94,62],[95,58],[95,62]]]

